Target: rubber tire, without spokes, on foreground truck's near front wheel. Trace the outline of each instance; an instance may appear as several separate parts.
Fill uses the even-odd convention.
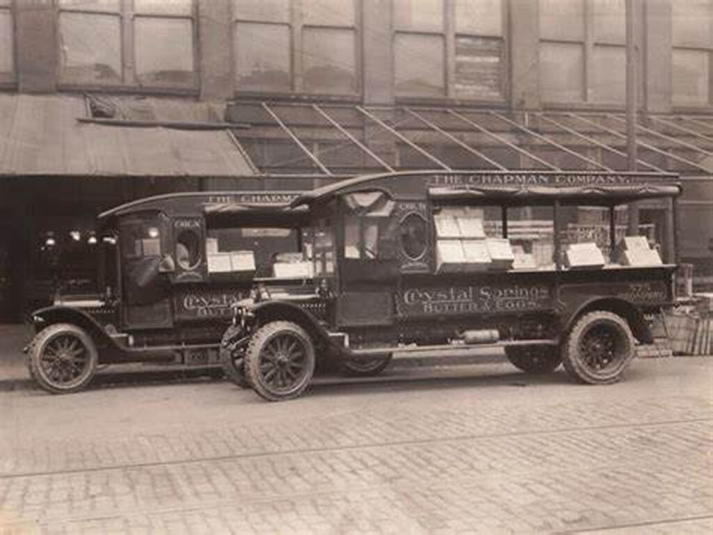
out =
[[[307,373],[299,384],[287,393],[270,388],[270,385],[265,384],[261,380],[259,373],[260,353],[262,353],[265,344],[279,333],[284,333],[285,331],[299,338],[299,341],[302,342],[305,358],[307,358]],[[245,375],[247,380],[250,381],[252,389],[262,398],[268,401],[292,400],[299,397],[309,386],[309,383],[312,382],[314,362],[315,356],[312,338],[309,338],[309,334],[307,334],[302,327],[291,321],[271,321],[257,329],[252,335],[252,338],[250,338],[250,343],[247,344],[247,349],[245,350]]]

